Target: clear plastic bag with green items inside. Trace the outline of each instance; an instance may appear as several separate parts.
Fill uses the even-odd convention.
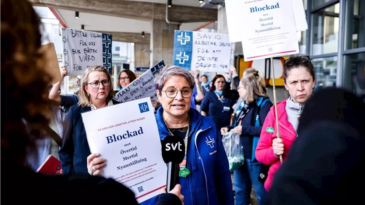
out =
[[[229,162],[229,170],[233,171],[241,167],[245,162],[245,158],[243,157],[241,136],[234,132],[226,132],[222,136],[222,142],[224,150],[226,150]]]

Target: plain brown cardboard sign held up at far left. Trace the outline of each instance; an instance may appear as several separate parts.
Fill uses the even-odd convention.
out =
[[[59,63],[56,54],[56,50],[54,49],[53,43],[47,43],[42,45],[41,53],[44,54],[46,65],[44,70],[52,77],[52,83],[55,84],[58,81],[61,81],[61,71],[59,70]]]

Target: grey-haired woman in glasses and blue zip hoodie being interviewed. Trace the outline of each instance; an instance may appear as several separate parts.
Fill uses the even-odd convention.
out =
[[[193,76],[178,66],[166,66],[154,79],[161,107],[155,115],[161,140],[184,139],[179,184],[185,205],[234,205],[228,159],[218,129],[210,117],[190,109]]]

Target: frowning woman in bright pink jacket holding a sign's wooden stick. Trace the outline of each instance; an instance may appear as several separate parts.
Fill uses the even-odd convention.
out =
[[[269,190],[273,181],[273,175],[280,167],[279,156],[286,159],[289,149],[297,138],[297,127],[301,111],[312,95],[316,82],[313,64],[309,56],[289,58],[284,61],[284,85],[289,91],[290,97],[287,100],[277,103],[279,119],[279,132],[281,139],[276,138],[276,121],[274,106],[266,116],[260,140],[256,147],[256,159],[270,165],[265,189]]]

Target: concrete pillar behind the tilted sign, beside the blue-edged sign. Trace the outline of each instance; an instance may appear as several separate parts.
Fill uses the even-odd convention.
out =
[[[172,65],[174,51],[174,31],[179,30],[178,24],[168,24],[165,20],[151,21],[151,54],[150,67],[164,59],[165,65]]]

